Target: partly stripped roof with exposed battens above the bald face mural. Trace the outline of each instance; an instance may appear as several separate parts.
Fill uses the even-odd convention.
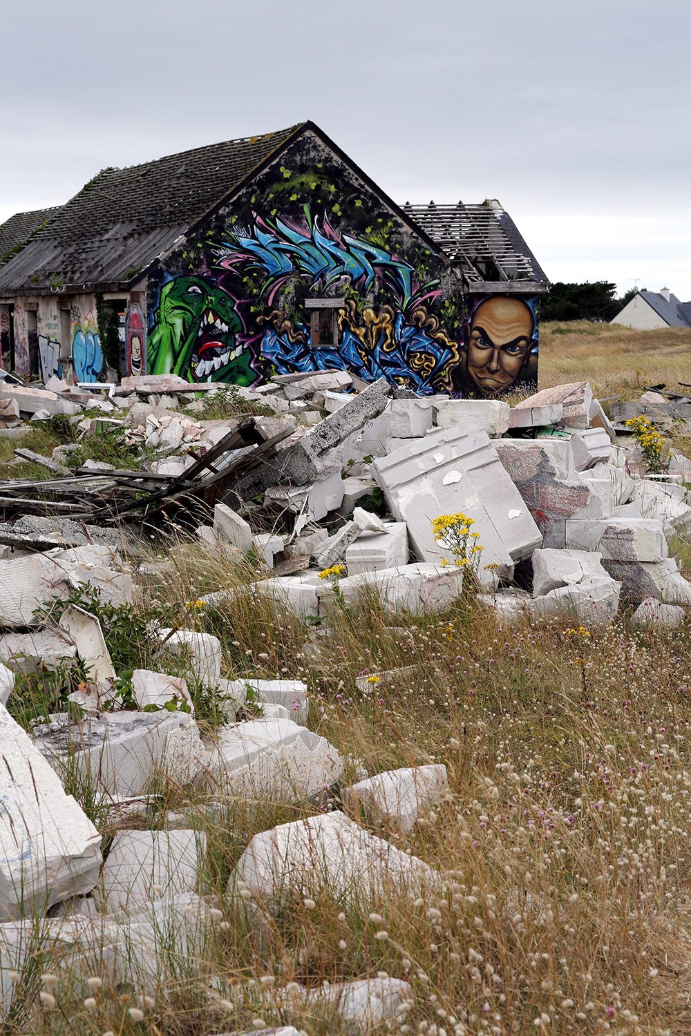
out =
[[[479,205],[406,202],[403,209],[460,267],[470,287],[488,281],[549,286],[518,227],[495,199]]]

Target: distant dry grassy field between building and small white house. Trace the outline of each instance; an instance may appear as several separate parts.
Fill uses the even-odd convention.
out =
[[[691,382],[691,329],[631,330],[586,320],[542,323],[539,378],[541,388],[589,381],[603,398],[635,399],[646,384],[662,382],[674,390]]]

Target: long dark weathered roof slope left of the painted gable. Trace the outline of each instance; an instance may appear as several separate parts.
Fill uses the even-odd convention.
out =
[[[0,295],[131,283],[301,124],[104,169],[0,269]]]

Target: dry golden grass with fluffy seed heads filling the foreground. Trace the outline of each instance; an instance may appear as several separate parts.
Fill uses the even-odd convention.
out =
[[[440,888],[414,904],[400,889],[374,901],[353,889],[344,903],[320,886],[314,903],[289,897],[258,925],[227,890],[242,850],[278,823],[339,808],[338,796],[315,806],[215,786],[219,814],[198,787],[168,788],[150,823],[174,808],[205,831],[218,922],[194,952],[165,932],[157,974],[133,966],[118,985],[109,959],[58,966],[47,950],[38,968],[59,974],[56,1007],[36,1003],[25,968],[23,1010],[5,1031],[202,1036],[290,1020],[345,1034],[328,1013],[288,1007],[286,986],[386,973],[412,985],[407,1017],[390,1026],[403,1036],[691,1032],[691,625],[641,633],[625,615],[589,637],[567,622],[502,630],[468,598],[421,617],[363,601],[336,609],[325,632],[243,592],[253,574],[178,547],[142,608],[233,587],[222,607],[190,611],[221,637],[224,675],[305,680],[312,728],[370,773],[445,764],[449,794],[425,823],[407,836],[374,829],[437,868]],[[356,675],[398,666],[412,672],[356,690]],[[90,974],[105,984],[87,1009]],[[151,1000],[136,1023],[141,996]]]

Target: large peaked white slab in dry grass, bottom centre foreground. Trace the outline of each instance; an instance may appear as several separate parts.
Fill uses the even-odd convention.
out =
[[[334,811],[281,824],[254,836],[230,876],[231,894],[269,912],[295,894],[344,903],[372,900],[390,885],[397,895],[418,896],[439,875],[422,860],[370,834],[344,813]]]

